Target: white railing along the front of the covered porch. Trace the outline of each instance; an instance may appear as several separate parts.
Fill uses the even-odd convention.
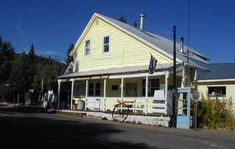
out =
[[[170,99],[170,98],[169,98]],[[157,113],[164,115],[171,115],[171,102],[166,98],[158,97],[87,97],[86,109],[91,111],[107,111],[107,109],[113,110],[114,106],[118,103],[125,103],[130,105],[130,110],[133,113]],[[112,101],[112,107],[108,107],[107,101]],[[151,106],[151,107],[149,107]]]

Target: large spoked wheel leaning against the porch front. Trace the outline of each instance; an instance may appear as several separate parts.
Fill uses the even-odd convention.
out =
[[[112,118],[114,121],[124,122],[129,115],[129,106],[124,103],[115,105],[112,112]]]

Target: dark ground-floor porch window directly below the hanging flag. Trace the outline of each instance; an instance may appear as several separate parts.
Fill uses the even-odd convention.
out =
[[[142,81],[142,96],[145,96],[145,82],[146,80]],[[149,79],[148,80],[148,96],[154,96],[154,91],[160,89],[160,82],[159,79]]]

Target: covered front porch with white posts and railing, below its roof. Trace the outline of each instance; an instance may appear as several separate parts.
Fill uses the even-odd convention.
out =
[[[84,111],[112,112],[120,102],[131,105],[133,115],[172,115],[172,82],[169,71],[94,75],[58,80],[58,107],[61,108],[60,89],[63,82],[71,83],[68,107],[76,110],[73,102],[85,102]],[[147,94],[146,94],[147,93]]]

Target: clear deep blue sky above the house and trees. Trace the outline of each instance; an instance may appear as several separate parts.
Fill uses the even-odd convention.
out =
[[[34,44],[37,55],[64,61],[95,12],[131,25],[144,13],[146,31],[172,39],[176,25],[177,41],[210,63],[235,62],[234,0],[0,0],[0,36],[17,53]]]

